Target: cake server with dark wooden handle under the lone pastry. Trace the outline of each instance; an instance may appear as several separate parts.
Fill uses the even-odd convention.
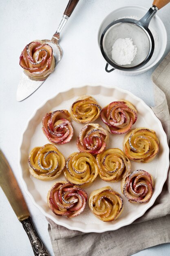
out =
[[[44,39],[44,43],[49,44],[53,48],[53,55],[55,58],[55,67],[60,62],[62,58],[62,48],[59,45],[60,33],[65,26],[68,18],[71,16],[71,13],[75,9],[79,0],[69,0],[67,7],[64,11],[60,24],[58,26],[57,31],[51,38],[51,40]],[[46,79],[45,79],[46,80]],[[45,81],[44,80],[44,81]],[[44,81],[35,81],[30,79],[24,72],[20,77],[20,81],[17,88],[17,101],[23,101],[27,97],[29,97],[33,92],[35,92]]]

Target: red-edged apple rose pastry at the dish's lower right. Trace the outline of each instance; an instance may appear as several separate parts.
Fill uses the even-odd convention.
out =
[[[131,203],[148,202],[152,196],[153,188],[152,175],[143,170],[133,171],[121,183],[121,191]]]

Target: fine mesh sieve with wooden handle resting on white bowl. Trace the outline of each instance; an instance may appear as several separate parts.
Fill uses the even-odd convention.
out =
[[[119,70],[136,70],[144,66],[154,52],[154,38],[148,29],[150,20],[155,16],[158,9],[168,4],[170,0],[154,0],[153,6],[141,20],[123,18],[115,20],[104,29],[100,39],[100,49],[107,61],[105,70],[111,72]],[[131,38],[137,47],[137,54],[133,61],[127,65],[118,65],[112,58],[111,51],[115,41],[119,38]],[[108,70],[108,64],[113,68]]]

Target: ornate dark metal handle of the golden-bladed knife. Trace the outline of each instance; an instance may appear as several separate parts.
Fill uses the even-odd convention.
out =
[[[30,240],[32,248],[33,248],[34,255],[50,256],[45,245],[42,243],[42,240],[40,239],[37,232],[35,231],[35,227],[33,225],[31,218],[23,220],[21,223],[26,231],[26,234],[29,237],[29,240]]]

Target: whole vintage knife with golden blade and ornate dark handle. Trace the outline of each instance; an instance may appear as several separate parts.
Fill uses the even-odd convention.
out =
[[[17,180],[13,175],[11,167],[0,150],[0,186],[4,191],[13,211],[18,220],[22,223],[26,234],[31,242],[33,252],[35,255],[50,256],[45,245],[42,243],[40,237],[35,231],[35,227],[31,220],[29,209],[18,186]]]

